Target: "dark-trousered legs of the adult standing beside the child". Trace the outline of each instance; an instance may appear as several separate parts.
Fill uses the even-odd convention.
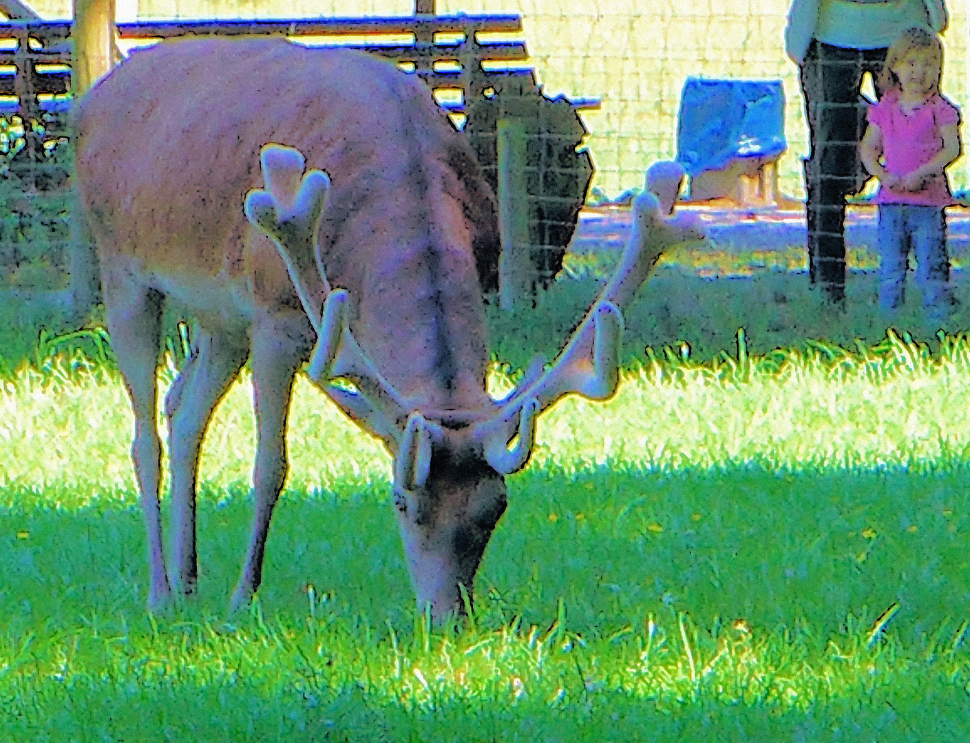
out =
[[[858,156],[865,133],[864,73],[875,79],[886,49],[844,49],[813,41],[801,67],[811,131],[805,163],[809,275],[832,301],[845,298],[845,197],[868,177]]]

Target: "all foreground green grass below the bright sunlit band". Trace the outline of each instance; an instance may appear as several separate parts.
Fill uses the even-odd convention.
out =
[[[792,483],[820,502],[806,507]],[[967,584],[960,563],[941,569],[924,553],[961,552],[966,492],[946,500],[959,513],[950,521],[919,484],[887,484],[889,498],[859,504],[846,496],[858,487],[851,477],[812,486],[763,473],[534,473],[513,487],[483,566],[477,627],[460,635],[428,635],[408,610],[393,513],[378,491],[291,492],[262,611],[235,631],[216,612],[248,518],[242,498],[217,509],[209,494],[202,509],[202,588],[215,596],[154,625],[138,590],[136,511],[11,513],[30,537],[4,545],[16,594],[5,586],[0,602],[0,692],[22,717],[8,711],[3,725],[41,740],[275,739],[280,730],[365,740],[381,728],[404,740],[409,730],[420,740],[675,740],[692,728],[699,740],[795,739],[796,728],[813,740],[945,739],[920,737],[934,728],[960,739]],[[630,490],[644,486],[650,507],[624,513]],[[717,497],[726,487],[747,497],[726,503]],[[893,510],[914,495],[930,502],[911,535]],[[754,516],[767,508],[780,515]],[[663,532],[644,527],[655,516],[641,511],[652,509],[663,511]],[[813,517],[824,528],[805,534]],[[859,528],[877,534],[867,540]],[[927,573],[937,579],[920,585]],[[876,615],[893,602],[904,608],[869,647]],[[939,704],[932,714],[926,698]],[[832,726],[848,731],[840,738]]]

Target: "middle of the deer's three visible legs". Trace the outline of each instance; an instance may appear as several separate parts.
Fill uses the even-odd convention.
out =
[[[172,582],[185,596],[195,593],[195,496],[199,450],[212,413],[239,374],[249,354],[241,329],[217,331],[197,324],[192,351],[165,398],[172,471]]]

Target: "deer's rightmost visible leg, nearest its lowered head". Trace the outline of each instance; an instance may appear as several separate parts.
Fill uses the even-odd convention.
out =
[[[256,409],[256,466],[253,471],[255,512],[239,583],[230,610],[250,602],[259,589],[270,518],[286,480],[286,419],[293,377],[309,356],[305,315],[267,316],[253,326],[252,380]]]

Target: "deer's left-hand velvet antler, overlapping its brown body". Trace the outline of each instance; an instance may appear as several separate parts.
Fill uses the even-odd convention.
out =
[[[280,144],[264,146],[260,161],[268,189],[253,189],[246,195],[245,215],[274,241],[316,331],[309,378],[347,416],[397,453],[403,437],[400,421],[407,417],[404,400],[354,340],[348,325],[349,296],[343,290],[331,291],[316,260],[317,229],[330,178],[322,170],[304,174],[303,154]],[[320,282],[322,292],[310,288]],[[334,377],[349,379],[359,393],[330,384]]]

